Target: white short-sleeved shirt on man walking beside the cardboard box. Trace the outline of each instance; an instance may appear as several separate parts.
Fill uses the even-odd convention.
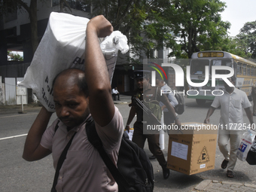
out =
[[[215,96],[212,102],[212,107],[218,108],[219,106],[221,106],[220,124],[223,125],[223,130],[239,130],[239,127],[244,129],[242,127],[242,109],[251,107],[251,102],[249,102],[245,92],[235,88],[230,94],[224,90],[224,94]]]

